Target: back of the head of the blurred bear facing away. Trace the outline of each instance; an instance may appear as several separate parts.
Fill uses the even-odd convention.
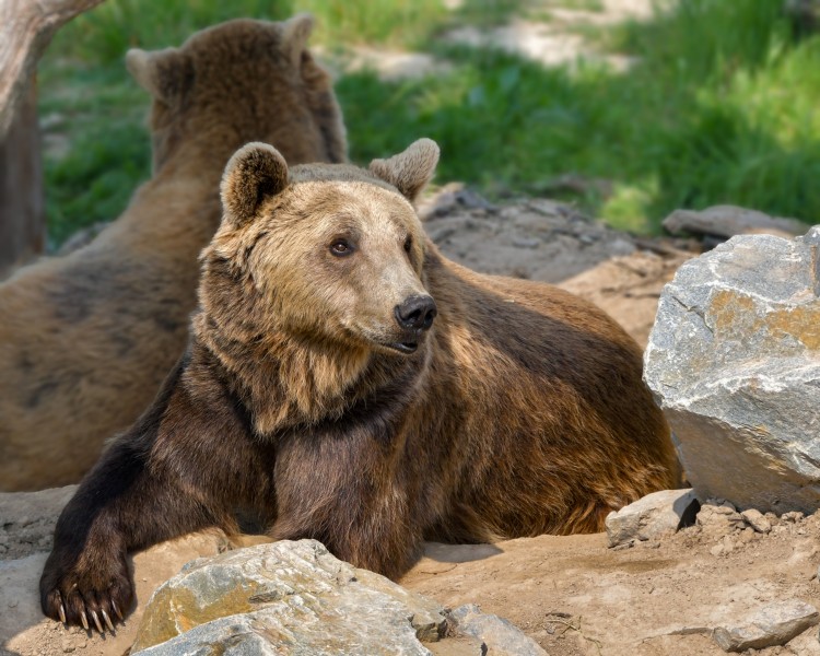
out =
[[[177,154],[221,171],[249,141],[276,143],[291,163],[344,162],[332,81],[307,50],[312,30],[308,14],[281,23],[239,19],[179,48],[129,50],[129,72],[153,96],[154,171]]]

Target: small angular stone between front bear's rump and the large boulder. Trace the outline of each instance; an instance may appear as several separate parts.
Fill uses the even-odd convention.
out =
[[[609,547],[649,540],[694,524],[701,507],[692,490],[661,490],[607,516]]]

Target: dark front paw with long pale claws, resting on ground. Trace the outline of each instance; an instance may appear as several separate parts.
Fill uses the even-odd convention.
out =
[[[86,631],[94,626],[99,633],[106,628],[113,632],[114,623],[124,620],[133,601],[125,554],[107,563],[83,555],[72,566],[63,566],[62,559],[51,552],[39,582],[43,612]]]

